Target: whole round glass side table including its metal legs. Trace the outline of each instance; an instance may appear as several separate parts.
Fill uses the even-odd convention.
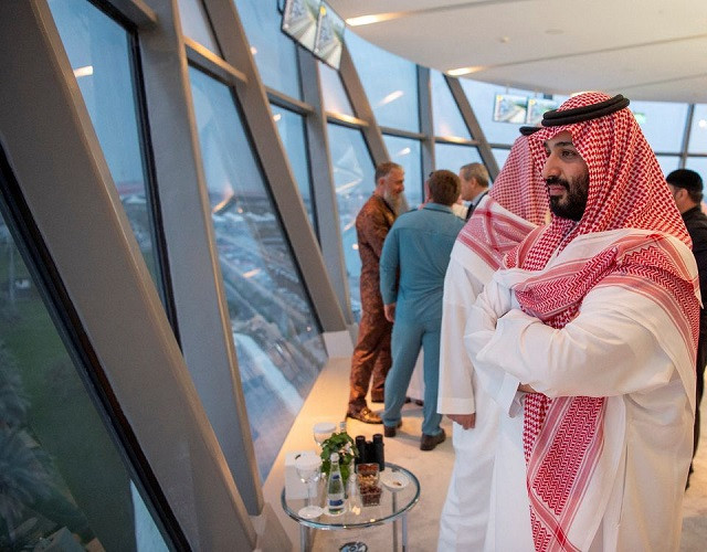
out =
[[[395,478],[407,481],[407,485],[397,487],[395,485],[384,485],[383,480],[392,474]],[[408,550],[408,511],[420,500],[420,481],[412,471],[395,464],[386,463],[386,469],[381,471],[382,492],[378,506],[351,507],[347,500],[346,511],[339,516],[328,516],[326,512],[316,519],[300,518],[297,512],[305,506],[306,499],[288,499],[285,488],[281,495],[281,501],[285,513],[299,523],[299,544],[302,552],[312,550],[309,529],[338,530],[338,529],[365,529],[367,527],[380,526],[392,522],[393,526],[393,548],[398,551],[398,520],[401,521],[401,543],[402,550]],[[393,490],[394,489],[394,490]],[[324,482],[319,482],[317,501],[324,503],[326,491]],[[321,505],[320,505],[321,506]]]

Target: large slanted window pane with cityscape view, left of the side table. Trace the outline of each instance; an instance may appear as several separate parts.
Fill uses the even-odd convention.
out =
[[[266,478],[326,353],[231,91],[189,70],[257,465]]]

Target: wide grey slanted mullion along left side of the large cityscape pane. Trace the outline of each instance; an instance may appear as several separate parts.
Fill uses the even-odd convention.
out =
[[[179,12],[171,0],[148,2],[159,24],[138,36],[182,353],[241,498],[249,512],[260,512],[260,475],[238,376]]]

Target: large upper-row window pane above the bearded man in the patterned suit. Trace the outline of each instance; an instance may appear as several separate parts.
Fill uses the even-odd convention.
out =
[[[386,127],[420,131],[418,68],[414,63],[386,52],[355,33],[346,35],[376,121]],[[386,75],[386,78],[381,78]]]

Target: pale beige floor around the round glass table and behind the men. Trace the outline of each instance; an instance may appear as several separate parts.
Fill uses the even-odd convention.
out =
[[[264,486],[265,500],[276,510],[287,531],[293,550],[298,550],[298,526],[287,518],[279,508],[279,493],[283,488],[284,454],[287,450],[314,448],[312,426],[324,420],[338,422],[346,412],[348,396],[348,359],[331,359],[300,411],[291,434],[287,437],[273,471]],[[380,411],[381,404],[372,404]],[[695,459],[695,473],[690,488],[685,493],[682,552],[707,551],[707,400],[703,401],[703,442]],[[422,408],[414,404],[405,405],[403,425],[395,438],[386,439],[386,458],[404,466],[418,476],[421,482],[420,502],[409,513],[409,550],[411,552],[436,551],[439,519],[446,497],[454,452],[451,438],[432,452],[420,450],[420,426]],[[444,420],[443,426],[451,434],[451,423]],[[365,435],[368,439],[380,433],[382,426],[368,425],[349,420],[350,435]],[[361,540],[368,544],[369,552],[390,552],[391,526],[380,526],[361,531],[316,531],[315,552],[336,552],[345,542]],[[633,552],[633,551],[630,551]]]

